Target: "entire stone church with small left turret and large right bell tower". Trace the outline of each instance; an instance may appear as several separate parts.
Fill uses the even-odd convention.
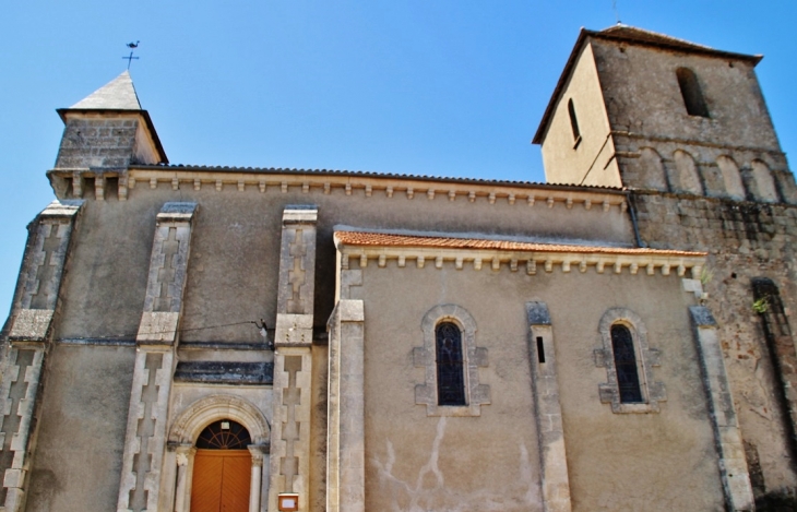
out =
[[[769,510],[797,488],[797,188],[760,60],[582,31],[547,183],[174,166],[60,109],[0,510]]]

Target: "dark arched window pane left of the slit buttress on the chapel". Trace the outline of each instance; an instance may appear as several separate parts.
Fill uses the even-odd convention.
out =
[[[462,331],[453,322],[442,322],[435,334],[438,405],[466,405]]]

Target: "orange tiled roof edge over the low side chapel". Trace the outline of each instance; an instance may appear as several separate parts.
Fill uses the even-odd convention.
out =
[[[421,247],[440,249],[484,249],[531,252],[578,252],[583,254],[676,255],[704,257],[705,252],[675,251],[624,247],[572,246],[536,243],[479,238],[445,238],[432,236],[393,235],[365,231],[335,231],[335,238],[347,246],[369,247]]]

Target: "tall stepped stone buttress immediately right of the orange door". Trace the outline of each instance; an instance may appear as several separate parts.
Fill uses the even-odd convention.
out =
[[[316,206],[283,212],[269,510],[284,492],[299,495],[299,510],[308,510],[317,219]]]

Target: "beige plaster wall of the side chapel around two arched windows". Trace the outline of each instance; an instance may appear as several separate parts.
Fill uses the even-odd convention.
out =
[[[357,266],[357,262],[352,262]],[[574,510],[716,510],[723,507],[714,438],[687,307],[693,294],[675,274],[610,272],[537,275],[451,264],[384,269],[369,263],[350,296],[366,312],[367,510],[540,510],[539,462],[528,365],[525,301],[548,305]],[[402,300],[396,300],[401,297]],[[437,305],[455,303],[488,350],[479,381],[491,404],[479,417],[428,417],[415,404],[425,382],[413,348]],[[662,350],[655,381],[668,401],[657,414],[614,414],[593,352],[607,309],[626,307]],[[666,481],[667,485],[662,485]],[[658,507],[658,509],[656,509]]]

